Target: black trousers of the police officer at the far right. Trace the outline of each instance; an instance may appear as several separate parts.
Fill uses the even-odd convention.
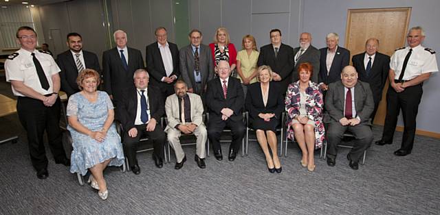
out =
[[[414,144],[416,130],[416,118],[419,110],[421,95],[423,94],[422,84],[405,88],[403,92],[396,92],[391,86],[386,92],[386,117],[382,140],[393,142],[394,131],[397,125],[397,116],[401,110],[404,118],[404,136],[401,147],[405,151],[411,151]]]

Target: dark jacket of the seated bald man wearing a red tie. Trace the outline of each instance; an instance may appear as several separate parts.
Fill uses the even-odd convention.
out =
[[[208,87],[206,88],[206,106],[208,106],[210,117],[221,118],[221,110],[223,108],[230,108],[234,111],[230,119],[232,121],[241,121],[243,118],[243,105],[244,92],[239,79],[229,77],[226,99],[223,96],[223,87],[221,86],[220,78],[216,77],[208,81]]]

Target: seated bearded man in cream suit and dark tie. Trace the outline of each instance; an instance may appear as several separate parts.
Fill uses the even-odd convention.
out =
[[[203,124],[203,103],[198,94],[186,92],[185,81],[177,80],[174,85],[175,94],[166,98],[165,112],[168,125],[165,128],[168,141],[176,155],[175,169],[184,166],[186,155],[181,149],[181,134],[194,134],[197,138],[195,162],[200,168],[205,168],[205,143],[208,136]]]

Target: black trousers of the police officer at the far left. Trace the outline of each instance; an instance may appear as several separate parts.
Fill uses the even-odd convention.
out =
[[[47,157],[43,143],[46,131],[49,149],[54,155],[55,162],[66,159],[62,134],[60,129],[60,99],[52,107],[47,107],[43,101],[30,97],[18,97],[17,113],[21,125],[28,132],[28,146],[32,165],[36,170],[47,168]]]

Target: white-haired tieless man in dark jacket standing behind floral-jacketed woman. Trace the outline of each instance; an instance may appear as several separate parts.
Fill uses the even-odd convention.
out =
[[[329,33],[325,40],[327,47],[319,49],[321,55],[318,84],[323,91],[328,90],[329,84],[340,80],[342,68],[350,63],[350,51],[338,46],[338,34]]]

